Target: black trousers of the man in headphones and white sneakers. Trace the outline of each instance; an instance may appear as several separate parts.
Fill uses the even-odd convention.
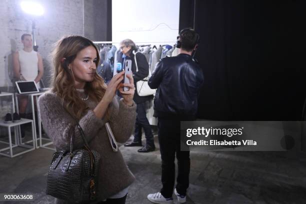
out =
[[[158,140],[161,155],[160,193],[171,197],[175,180],[175,154],[177,159],[176,191],[186,195],[189,186],[190,158],[189,151],[180,151],[180,121],[158,117]]]

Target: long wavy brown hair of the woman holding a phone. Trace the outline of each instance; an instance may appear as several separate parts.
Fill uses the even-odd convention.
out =
[[[88,111],[89,107],[78,96],[74,86],[74,77],[68,66],[75,59],[77,53],[87,46],[95,48],[97,57],[95,65],[97,66],[99,63],[98,49],[91,40],[83,36],[70,35],[62,37],[55,43],[55,48],[51,54],[54,65],[51,90],[61,98],[62,106],[77,119],[80,119]],[[103,97],[106,87],[104,80],[95,73],[93,80],[86,82],[84,90],[90,99],[98,102]]]

